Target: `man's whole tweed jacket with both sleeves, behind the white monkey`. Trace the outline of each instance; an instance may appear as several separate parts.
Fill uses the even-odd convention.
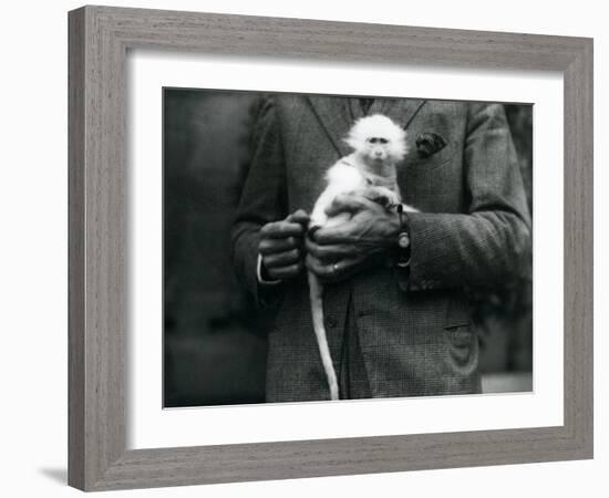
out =
[[[374,397],[479,392],[478,343],[465,288],[494,288],[525,271],[530,217],[517,158],[498,104],[376,98],[407,132],[398,166],[410,215],[407,274],[392,263],[327,286],[324,315],[336,360],[349,298]],[[251,163],[234,225],[238,277],[258,302],[276,310],[268,333],[267,401],[328,400],[310,317],[307,279],[271,291],[256,278],[262,225],[311,208],[324,172],[351,151],[342,141],[362,115],[357,98],[275,95],[260,106]],[[417,151],[425,133],[445,146]],[[270,293],[270,297],[269,297]]]

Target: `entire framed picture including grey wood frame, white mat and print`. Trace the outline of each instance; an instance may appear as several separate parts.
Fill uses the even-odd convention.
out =
[[[69,483],[592,457],[592,41],[69,14]]]

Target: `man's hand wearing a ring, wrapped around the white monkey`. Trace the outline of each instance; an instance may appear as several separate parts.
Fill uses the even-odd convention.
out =
[[[351,218],[337,227],[322,227],[306,240],[307,268],[324,281],[349,278],[386,256],[400,232],[395,212],[359,194],[338,196],[326,212]]]

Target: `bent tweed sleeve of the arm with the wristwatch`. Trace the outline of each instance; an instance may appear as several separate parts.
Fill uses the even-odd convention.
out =
[[[469,104],[464,214],[409,215],[407,289],[496,288],[529,268],[531,221],[500,104]]]

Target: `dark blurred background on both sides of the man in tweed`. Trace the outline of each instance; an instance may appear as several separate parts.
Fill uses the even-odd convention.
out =
[[[265,401],[268,317],[237,283],[229,251],[261,96],[164,90],[165,407]],[[505,110],[533,212],[533,106]],[[473,299],[483,392],[530,391],[530,279]]]

